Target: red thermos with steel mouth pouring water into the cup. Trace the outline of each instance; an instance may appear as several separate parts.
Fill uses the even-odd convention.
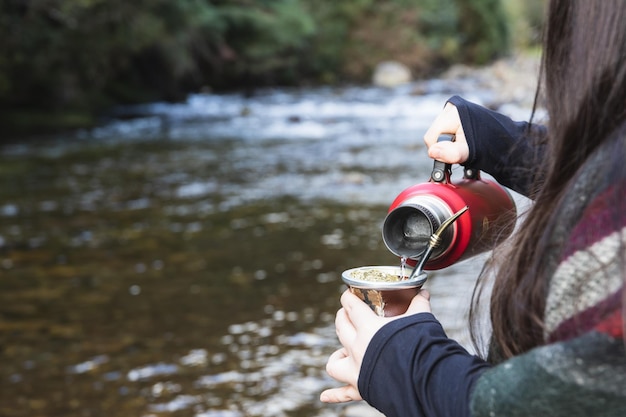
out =
[[[439,140],[453,140],[442,135]],[[430,236],[441,223],[467,206],[442,234],[424,269],[441,269],[492,249],[506,239],[517,216],[508,191],[495,181],[480,178],[480,172],[465,168],[462,180],[450,180],[450,165],[435,161],[429,182],[402,191],[389,207],[383,224],[387,248],[410,264],[420,260]]]

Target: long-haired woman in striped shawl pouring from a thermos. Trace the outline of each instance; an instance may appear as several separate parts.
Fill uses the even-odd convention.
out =
[[[623,0],[550,2],[547,130],[453,97],[425,135],[430,157],[534,200],[494,252],[487,358],[446,337],[426,291],[394,318],[345,292],[327,371],[346,385],[322,401],[387,417],[626,416],[625,21]]]

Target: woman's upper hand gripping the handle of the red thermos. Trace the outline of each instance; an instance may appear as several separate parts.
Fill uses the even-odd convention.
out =
[[[440,135],[455,135],[454,142],[437,142]],[[469,146],[461,125],[461,118],[456,106],[446,103],[443,111],[430,125],[424,134],[424,142],[428,148],[428,156],[448,164],[462,164],[469,158]]]

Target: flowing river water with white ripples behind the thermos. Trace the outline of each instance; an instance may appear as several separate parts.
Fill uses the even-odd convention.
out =
[[[382,220],[428,179],[421,137],[456,93],[495,94],[471,80],[197,94],[3,145],[0,415],[367,415],[318,401],[336,385],[340,273],[398,264]],[[466,345],[483,261],[426,284]]]

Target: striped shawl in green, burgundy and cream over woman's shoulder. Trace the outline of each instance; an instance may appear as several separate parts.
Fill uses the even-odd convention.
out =
[[[626,416],[624,130],[585,164],[561,207],[546,344],[483,373],[472,416]]]

